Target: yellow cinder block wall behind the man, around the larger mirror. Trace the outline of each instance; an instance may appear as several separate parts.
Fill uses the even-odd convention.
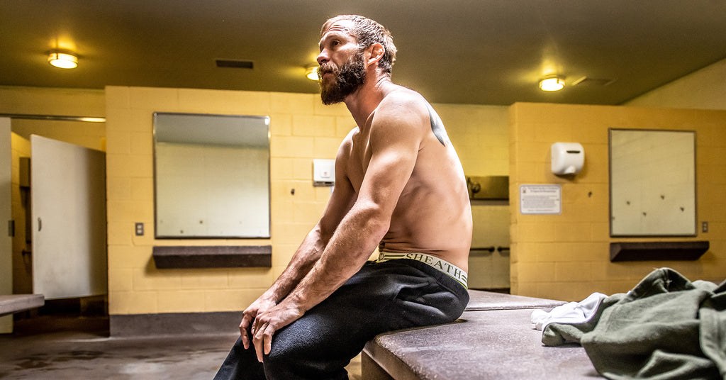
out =
[[[330,197],[312,186],[312,159],[335,158],[355,126],[344,105],[318,94],[108,86],[108,286],[111,315],[240,311],[272,284],[314,226]],[[507,108],[435,105],[465,170],[507,174]],[[152,113],[270,116],[272,238],[155,240]],[[295,189],[294,195],[291,190]],[[143,222],[145,235],[134,235]],[[158,270],[155,245],[272,245],[272,269]]]

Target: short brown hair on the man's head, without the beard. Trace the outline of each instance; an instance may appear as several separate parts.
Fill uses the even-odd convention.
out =
[[[383,49],[386,51],[383,53],[383,57],[378,61],[378,67],[383,69],[383,72],[391,76],[391,68],[393,62],[396,62],[396,46],[393,45],[393,37],[391,32],[388,31],[383,25],[376,23],[370,18],[357,16],[357,15],[339,15],[327,20],[320,30],[320,35],[325,34],[330,25],[340,20],[351,20],[353,22],[353,36],[358,42],[359,49],[367,49],[372,44],[378,43],[383,45]]]

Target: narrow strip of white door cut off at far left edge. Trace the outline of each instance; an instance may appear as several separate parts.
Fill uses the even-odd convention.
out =
[[[12,294],[11,171],[10,118],[0,118],[0,294]],[[0,318],[0,333],[12,333],[12,315]]]

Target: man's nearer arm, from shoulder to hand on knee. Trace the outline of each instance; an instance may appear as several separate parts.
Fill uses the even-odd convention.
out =
[[[354,206],[298,286],[258,317],[253,342],[259,360],[263,352],[269,353],[274,332],[300,318],[351,278],[388,231],[428,121],[428,113],[419,102],[391,100],[391,104],[386,100],[381,103],[372,120],[371,158]]]

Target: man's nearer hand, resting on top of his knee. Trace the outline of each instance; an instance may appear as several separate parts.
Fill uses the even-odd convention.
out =
[[[272,349],[272,336],[277,330],[293,323],[305,314],[305,310],[290,302],[289,299],[280,302],[275,307],[258,312],[252,324],[252,342],[255,346],[257,360],[262,363],[262,357]],[[244,322],[244,320],[242,320]],[[245,348],[247,346],[245,345]]]

